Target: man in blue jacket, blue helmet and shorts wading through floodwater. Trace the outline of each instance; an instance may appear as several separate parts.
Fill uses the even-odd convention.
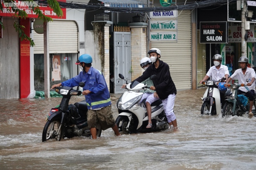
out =
[[[92,57],[89,54],[83,54],[76,61],[76,65],[82,70],[79,75],[55,84],[51,89],[59,86],[75,87],[80,82],[85,82],[82,94],[85,95],[87,102],[87,122],[92,138],[97,138],[97,126],[102,130],[112,128],[116,136],[121,135],[114,120],[111,110],[111,100],[107,83],[102,73],[92,67]]]

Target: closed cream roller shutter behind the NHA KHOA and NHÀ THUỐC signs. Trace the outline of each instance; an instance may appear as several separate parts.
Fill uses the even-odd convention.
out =
[[[181,14],[180,14],[181,12]],[[161,60],[170,66],[177,90],[191,89],[191,11],[178,11],[178,41],[151,41],[152,48],[161,51]]]

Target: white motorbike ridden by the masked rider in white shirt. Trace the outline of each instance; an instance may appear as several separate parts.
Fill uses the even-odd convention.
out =
[[[225,78],[224,78],[225,79]],[[221,114],[220,103],[220,90],[218,89],[217,82],[223,82],[223,80],[215,81],[208,80],[203,81],[203,85],[208,88],[205,90],[202,99],[201,115],[216,115]]]

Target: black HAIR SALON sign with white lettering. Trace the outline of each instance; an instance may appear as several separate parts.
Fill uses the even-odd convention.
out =
[[[200,22],[200,43],[227,43],[227,22]]]

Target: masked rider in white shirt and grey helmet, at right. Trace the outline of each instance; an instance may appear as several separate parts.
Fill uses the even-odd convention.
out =
[[[211,77],[211,80],[219,81],[223,77],[226,78],[226,80],[229,77],[229,71],[228,67],[221,64],[222,56],[220,54],[215,54],[213,56],[213,64],[214,66],[211,66],[211,68],[208,70],[204,78],[200,81],[202,83],[203,81],[208,80],[208,78]],[[221,107],[225,104],[225,92],[227,90],[220,90],[220,101],[221,101]]]

